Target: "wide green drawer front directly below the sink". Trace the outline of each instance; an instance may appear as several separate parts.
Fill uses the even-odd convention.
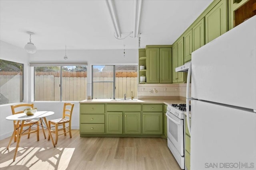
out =
[[[141,111],[141,104],[108,104],[107,111]]]

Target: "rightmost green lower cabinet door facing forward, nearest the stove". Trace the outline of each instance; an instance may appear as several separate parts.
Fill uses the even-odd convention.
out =
[[[163,133],[163,113],[162,112],[143,112],[142,133],[143,134],[162,134]]]

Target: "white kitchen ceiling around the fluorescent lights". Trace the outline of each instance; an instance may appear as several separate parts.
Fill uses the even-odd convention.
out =
[[[141,47],[170,45],[212,0],[143,0]],[[133,31],[133,0],[114,0],[122,36]],[[138,49],[138,38],[114,37],[105,0],[0,0],[0,40],[38,50]]]

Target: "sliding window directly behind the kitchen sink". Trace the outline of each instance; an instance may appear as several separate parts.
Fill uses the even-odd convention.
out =
[[[93,65],[92,98],[137,98],[138,65]]]

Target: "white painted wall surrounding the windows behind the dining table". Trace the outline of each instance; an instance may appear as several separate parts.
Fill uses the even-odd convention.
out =
[[[122,49],[113,50],[67,50],[67,60],[64,60],[65,50],[58,51],[37,51],[35,54],[28,55],[24,49],[10,45],[1,41],[1,59],[14,61],[24,64],[24,100],[31,103],[33,100],[33,70],[29,67],[30,62],[86,62],[88,63],[88,85],[87,95],[91,96],[91,69],[92,64],[138,64],[138,49],[126,49],[125,57]],[[26,67],[25,67],[26,66]],[[29,75],[29,76],[27,76]],[[25,78],[26,77],[26,78]],[[32,102],[38,110],[54,111],[55,114],[47,117],[47,119],[56,119],[62,116],[63,102]],[[79,129],[79,103],[75,104],[72,115],[72,129]],[[0,139],[4,139],[12,135],[13,124],[7,121],[5,117],[11,114],[10,105],[0,106]],[[3,114],[4,113],[4,114]]]

